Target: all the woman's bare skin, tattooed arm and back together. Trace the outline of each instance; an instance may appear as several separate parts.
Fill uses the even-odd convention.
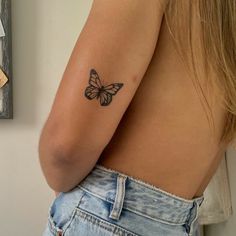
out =
[[[161,2],[168,1],[94,1],[39,142],[56,192],[98,163],[191,199],[215,172],[225,112],[216,100],[212,135]]]

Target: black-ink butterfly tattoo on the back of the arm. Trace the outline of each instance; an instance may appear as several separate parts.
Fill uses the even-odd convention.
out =
[[[107,106],[112,101],[112,96],[115,95],[121,88],[122,83],[114,83],[104,86],[94,69],[90,70],[89,86],[86,87],[84,95],[89,100],[94,98],[100,99],[101,106]]]

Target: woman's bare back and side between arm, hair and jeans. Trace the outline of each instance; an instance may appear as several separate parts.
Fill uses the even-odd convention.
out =
[[[164,22],[164,21],[163,21]],[[202,195],[225,147],[225,111],[215,103],[211,131],[199,96],[162,23],[146,74],[98,164],[178,196]]]

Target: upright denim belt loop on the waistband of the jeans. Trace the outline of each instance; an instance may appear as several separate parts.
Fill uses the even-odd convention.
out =
[[[121,173],[117,174],[116,196],[115,196],[112,210],[109,215],[110,218],[115,219],[115,220],[119,220],[120,213],[123,208],[126,179],[127,179],[126,175],[123,175]]]

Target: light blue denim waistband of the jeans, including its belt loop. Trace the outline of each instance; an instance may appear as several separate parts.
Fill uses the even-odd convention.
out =
[[[191,227],[204,196],[191,200],[144,181],[96,164],[78,187],[113,204],[110,217],[118,219],[125,208],[153,220]]]

